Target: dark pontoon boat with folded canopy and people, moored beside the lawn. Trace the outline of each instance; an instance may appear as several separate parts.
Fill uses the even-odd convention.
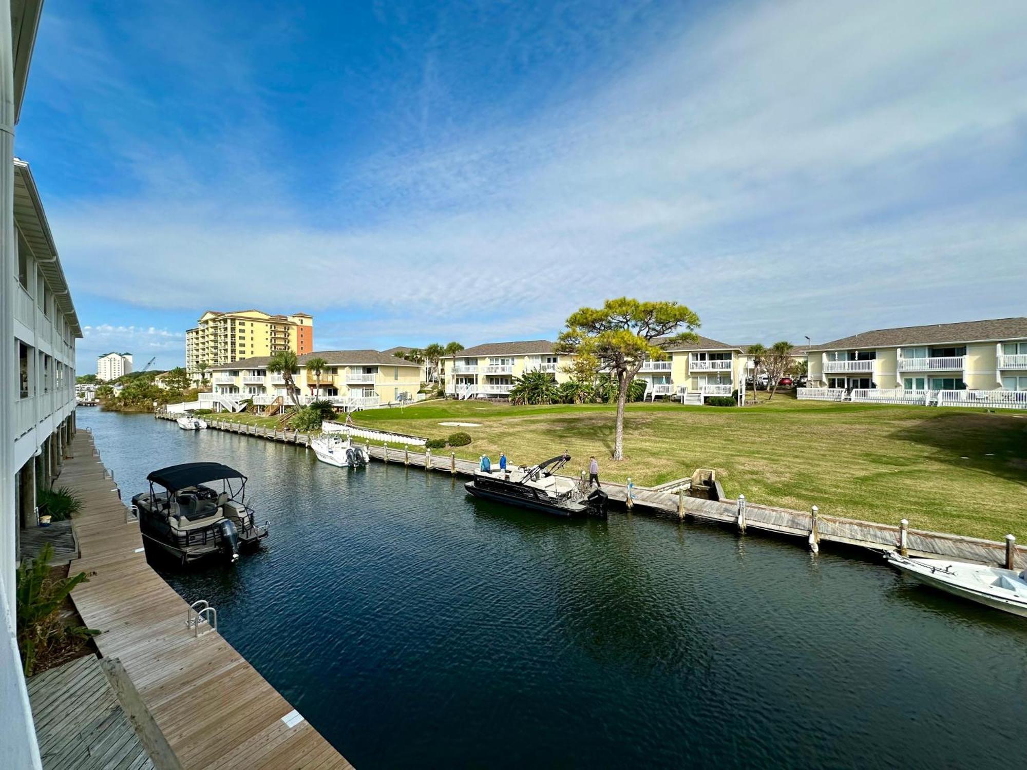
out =
[[[464,485],[464,489],[476,497],[543,510],[558,516],[605,517],[607,495],[603,490],[588,494],[575,479],[556,475],[570,459],[570,455],[563,454],[531,467],[505,471],[479,470],[473,479]]]

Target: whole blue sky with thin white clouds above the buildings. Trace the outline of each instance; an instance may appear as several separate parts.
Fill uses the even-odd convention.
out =
[[[1022,0],[46,0],[15,153],[85,338],[734,344],[1025,314]]]

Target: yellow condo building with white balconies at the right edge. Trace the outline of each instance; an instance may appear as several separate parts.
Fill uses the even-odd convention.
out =
[[[816,345],[809,385],[857,400],[1027,406],[1027,318],[879,329]]]

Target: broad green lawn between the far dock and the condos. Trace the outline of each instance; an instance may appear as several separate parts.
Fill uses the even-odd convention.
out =
[[[760,394],[765,397],[764,394]],[[649,486],[714,468],[730,496],[753,502],[990,539],[1027,540],[1027,413],[797,401],[778,393],[746,408],[636,403],[626,458],[610,460],[613,409],[431,401],[354,415],[358,425],[473,437],[458,457],[531,463],[568,450],[601,477]],[[456,428],[440,422],[474,422]],[[449,451],[449,450],[447,450]]]

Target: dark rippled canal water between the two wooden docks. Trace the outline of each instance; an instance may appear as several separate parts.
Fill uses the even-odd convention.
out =
[[[250,476],[266,547],[165,577],[215,605],[357,767],[1022,761],[1027,622],[877,560],[621,513],[564,522],[403,466],[346,471],[148,416],[79,420],[126,498],[178,462]]]

